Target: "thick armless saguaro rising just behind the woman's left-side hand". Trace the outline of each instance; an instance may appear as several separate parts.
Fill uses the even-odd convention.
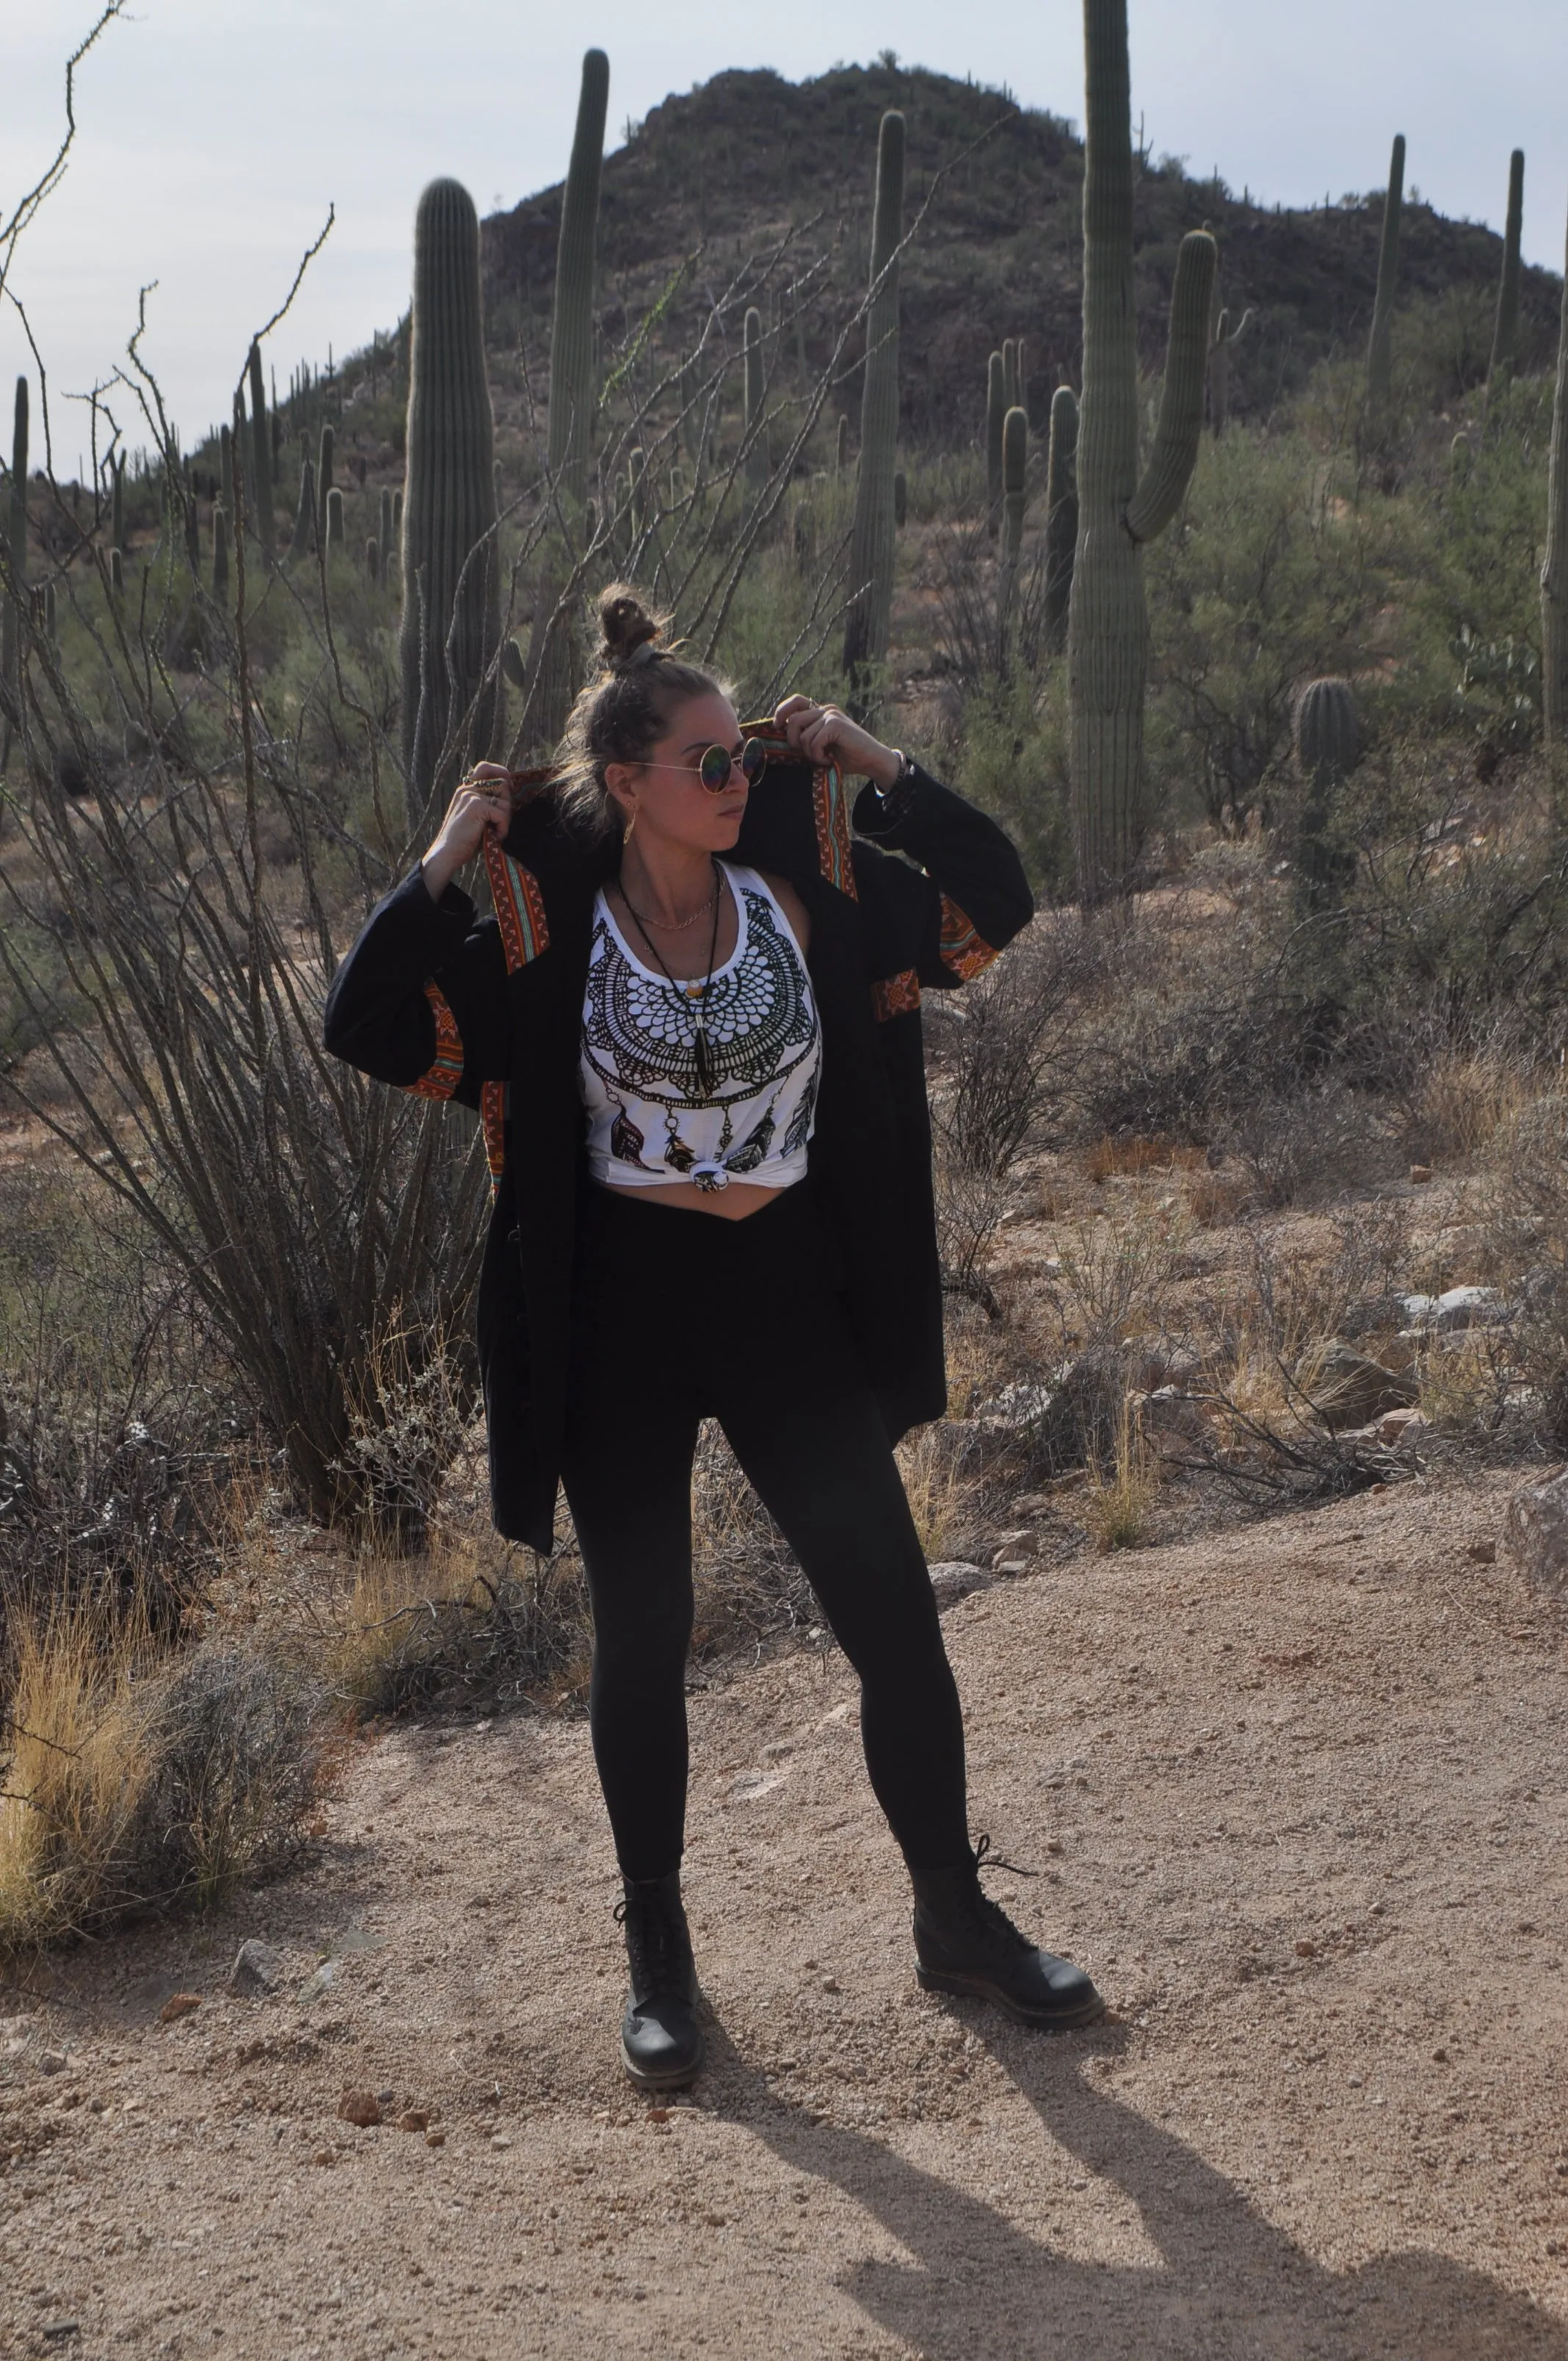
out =
[[[413,217],[404,498],[401,722],[409,826],[501,722],[496,427],[484,375],[479,215],[456,179],[432,179]]]

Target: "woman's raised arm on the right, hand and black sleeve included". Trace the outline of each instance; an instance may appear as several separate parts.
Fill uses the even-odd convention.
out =
[[[919,862],[923,876],[893,864],[902,876],[888,881],[907,904],[900,933],[909,926],[919,982],[945,989],[987,968],[1034,916],[1025,866],[1004,829],[838,706],[789,696],[775,722],[810,760],[869,779],[855,798],[857,833]]]

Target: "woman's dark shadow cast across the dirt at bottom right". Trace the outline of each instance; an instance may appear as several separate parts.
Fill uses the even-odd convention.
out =
[[[1422,2248],[1332,2271],[1183,2139],[1096,2089],[1112,2028],[1048,2038],[963,2012],[1048,2144],[1138,2210],[1157,2264],[1086,2262],[1023,2234],[881,2139],[812,2123],[770,2092],[723,2026],[711,2094],[796,2172],[864,2208],[914,2262],[867,2259],[850,2295],[921,2361],[1568,2361],[1568,2333],[1485,2271]],[[1044,2144],[1041,2144],[1044,2156]]]

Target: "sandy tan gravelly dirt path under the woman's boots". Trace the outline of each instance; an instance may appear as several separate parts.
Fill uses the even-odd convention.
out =
[[[1086,2035],[916,1990],[838,1660],[692,1700],[713,2066],[668,2111],[586,1731],[380,1740],[307,1875],[0,2002],[0,2352],[1568,2361],[1568,1657],[1469,1556],[1500,1499],[952,1610],[975,1827]],[[241,1936],[279,1997],[222,1997]]]

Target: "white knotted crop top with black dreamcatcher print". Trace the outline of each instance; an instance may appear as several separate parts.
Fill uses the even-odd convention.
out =
[[[789,918],[756,874],[725,862],[739,935],[706,992],[713,1079],[697,1081],[701,982],[645,966],[600,892],[583,994],[579,1086],[588,1169],[619,1188],[701,1190],[805,1178],[822,1029]]]

